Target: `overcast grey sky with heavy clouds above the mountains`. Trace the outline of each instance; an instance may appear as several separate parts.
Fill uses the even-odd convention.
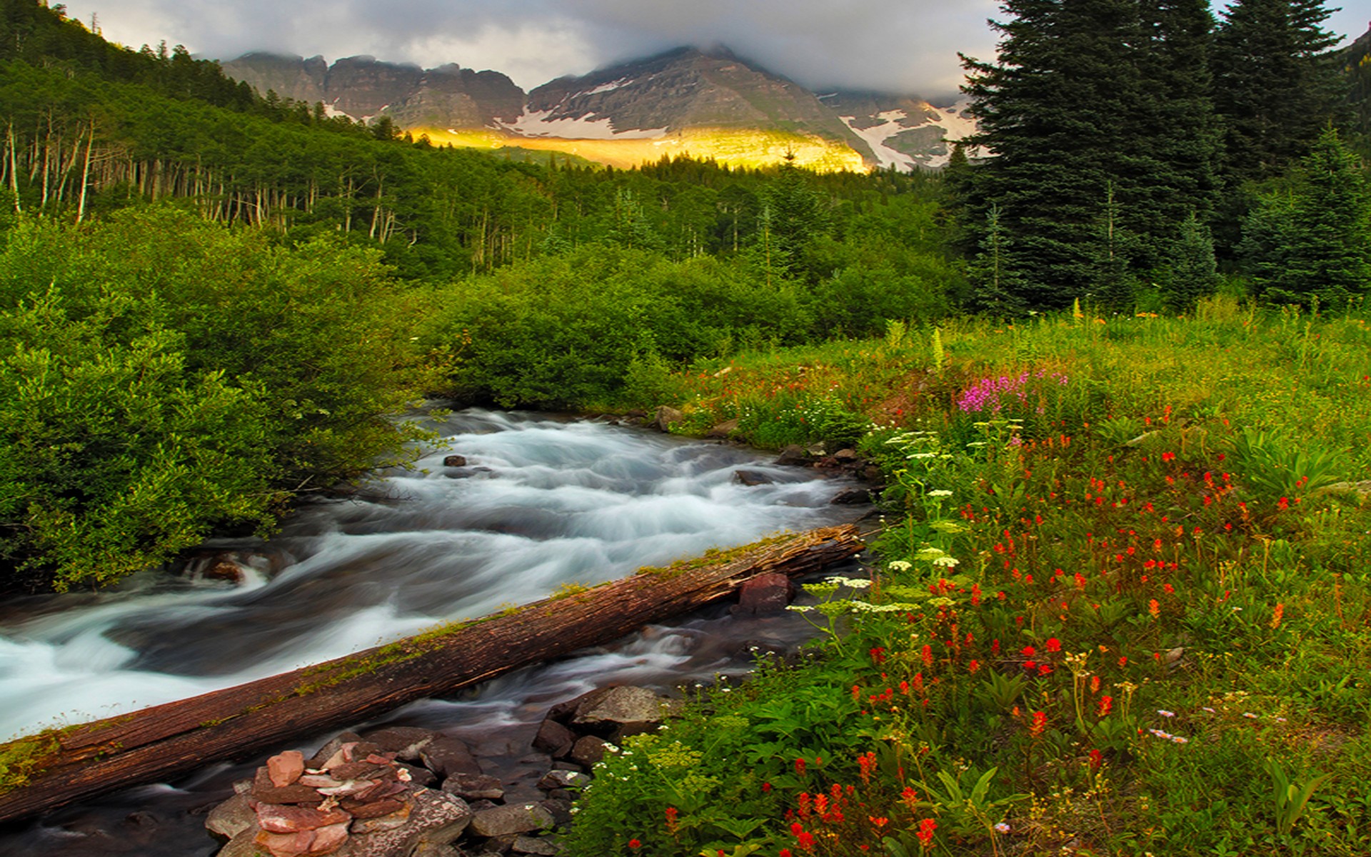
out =
[[[1360,3],[1360,0],[1359,0]],[[956,92],[957,51],[987,59],[999,0],[70,0],[67,12],[129,47],[197,56],[254,49],[370,53],[425,67],[495,69],[532,89],[679,45],[724,44],[806,86]],[[1363,12],[1328,27],[1360,36]]]

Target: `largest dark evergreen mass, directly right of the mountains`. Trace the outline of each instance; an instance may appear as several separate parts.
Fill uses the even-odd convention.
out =
[[[993,155],[972,170],[967,221],[999,207],[1024,304],[1094,296],[1123,309],[1185,217],[1213,204],[1212,18],[1204,0],[1002,8],[997,62],[964,58],[980,121],[969,143]]]

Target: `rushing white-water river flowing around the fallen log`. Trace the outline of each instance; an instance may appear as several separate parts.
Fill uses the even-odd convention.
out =
[[[111,592],[0,607],[0,740],[315,664],[561,586],[594,586],[643,565],[860,514],[831,505],[850,483],[735,446],[529,414],[461,411],[426,424],[447,448],[415,469],[380,474],[351,499],[304,506],[269,542],[207,544],[207,557],[236,561],[239,580],[147,573]],[[450,454],[466,466],[443,466]],[[771,481],[743,485],[739,469]],[[199,565],[203,572],[214,564]],[[706,610],[452,699],[410,705],[384,721],[458,735],[496,768],[491,773],[517,782],[520,756],[554,702],[606,684],[668,690],[742,673],[753,646],[786,649],[808,633],[795,614],[743,621],[727,609]],[[0,827],[0,853],[211,854],[218,846],[203,813],[255,764],[213,765],[174,786]]]

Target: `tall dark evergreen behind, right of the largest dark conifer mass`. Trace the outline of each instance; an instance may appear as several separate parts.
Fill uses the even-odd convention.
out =
[[[1237,0],[1215,37],[1213,100],[1233,181],[1278,176],[1344,110],[1322,0]]]

